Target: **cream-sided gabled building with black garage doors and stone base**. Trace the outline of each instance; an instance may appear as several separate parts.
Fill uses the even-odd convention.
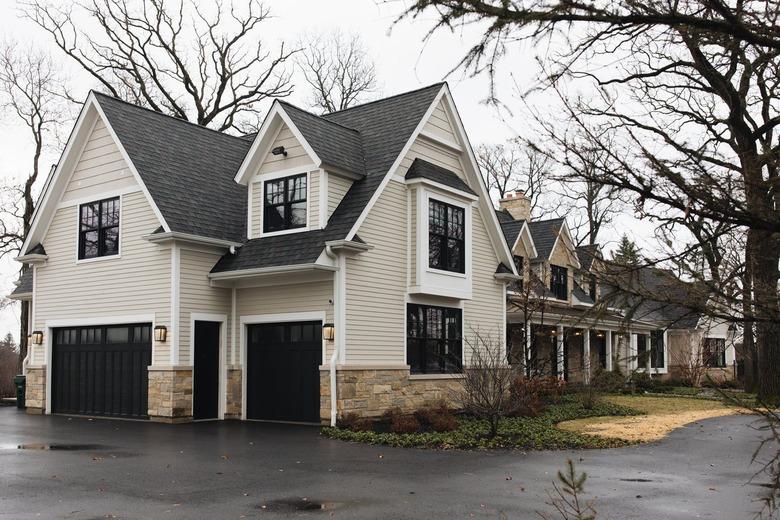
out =
[[[28,411],[169,422],[446,397],[518,278],[446,84],[244,137],[91,93],[18,260]]]

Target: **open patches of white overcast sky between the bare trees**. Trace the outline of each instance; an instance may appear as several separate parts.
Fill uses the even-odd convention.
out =
[[[60,0],[67,1],[67,0]],[[374,56],[382,95],[392,95],[446,79],[452,89],[455,102],[466,131],[474,146],[480,143],[501,142],[518,134],[526,137],[529,131],[528,116],[514,96],[515,86],[530,85],[536,68],[536,49],[526,45],[513,49],[504,62],[503,75],[499,77],[499,94],[512,109],[498,113],[481,103],[487,93],[486,78],[464,78],[455,73],[446,76],[463,56],[468,44],[474,41],[478,27],[465,33],[437,32],[427,42],[423,38],[431,27],[432,15],[415,21],[404,21],[393,26],[393,21],[406,5],[404,2],[389,4],[372,0],[268,0],[274,15],[265,23],[263,38],[266,41],[284,40],[293,44],[300,34],[307,31],[327,31],[339,28],[355,32]],[[24,45],[35,45],[50,52],[62,64],[71,79],[76,97],[84,99],[94,83],[77,69],[54,47],[48,34],[34,24],[19,18],[16,0],[0,0],[0,38],[14,39]],[[302,81],[289,101],[306,106],[308,92]],[[544,96],[536,96],[533,103],[544,109]],[[0,175],[6,178],[22,178],[26,175],[32,143],[24,127],[9,124],[11,116],[0,114]],[[45,169],[57,162],[59,149],[47,151]],[[615,228],[619,228],[617,231]],[[652,227],[637,223],[630,214],[621,217],[613,229],[604,232],[603,241],[613,242],[620,233],[628,230],[640,243],[647,243]],[[8,294],[13,288],[18,264],[12,259],[0,261],[0,291]],[[18,306],[0,312],[0,334],[11,331],[15,336],[19,328]]]

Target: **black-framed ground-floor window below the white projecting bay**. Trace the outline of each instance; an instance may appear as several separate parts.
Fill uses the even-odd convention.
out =
[[[412,374],[461,372],[462,311],[430,305],[407,305],[406,361]]]

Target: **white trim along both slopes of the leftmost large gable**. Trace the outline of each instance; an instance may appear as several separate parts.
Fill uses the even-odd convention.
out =
[[[170,226],[168,226],[162,213],[160,213],[160,209],[157,207],[157,204],[155,204],[154,199],[152,199],[146,184],[144,184],[141,176],[138,174],[138,170],[130,160],[130,156],[127,155],[127,151],[117,137],[116,132],[111,127],[111,123],[103,112],[103,109],[100,107],[97,98],[90,92],[89,96],[87,96],[87,100],[84,102],[84,106],[81,108],[79,117],[71,131],[60,160],[46,180],[43,193],[39,199],[39,204],[33,213],[30,232],[27,234],[24,244],[22,244],[22,254],[24,254],[32,244],[43,242],[43,238],[49,229],[54,214],[57,212],[60,199],[70,182],[73,171],[81,158],[98,119],[102,119],[103,123],[106,125],[109,135],[114,140],[114,144],[116,144],[117,149],[122,155],[122,159],[127,164],[127,168],[130,170],[130,173],[132,173],[135,182],[146,197],[146,200],[149,203],[149,206],[151,206],[157,220],[160,222],[160,225],[165,231],[170,232]]]

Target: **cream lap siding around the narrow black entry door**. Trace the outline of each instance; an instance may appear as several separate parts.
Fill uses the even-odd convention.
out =
[[[230,359],[231,332],[230,323],[231,312],[231,289],[222,287],[211,287],[208,274],[214,264],[220,259],[220,253],[211,253],[205,251],[193,251],[181,249],[180,253],[180,322],[179,322],[179,364],[191,365],[193,360],[190,358],[190,349],[192,348],[192,313],[200,314],[223,314],[227,321],[223,324],[227,331],[227,345],[223,346],[227,357],[225,362],[233,364]]]

